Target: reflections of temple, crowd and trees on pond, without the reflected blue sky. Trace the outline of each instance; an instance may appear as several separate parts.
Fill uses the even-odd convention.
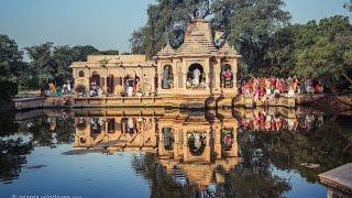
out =
[[[8,121],[12,132],[1,132],[2,183],[18,179],[35,147],[59,144],[72,144],[66,156],[142,152],[131,167],[148,183],[151,197],[280,197],[297,187],[277,170],[294,170],[307,185],[352,160],[351,119],[307,109],[33,114]],[[310,163],[319,166],[305,166]]]

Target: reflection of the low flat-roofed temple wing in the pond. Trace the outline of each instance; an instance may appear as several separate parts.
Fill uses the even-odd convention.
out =
[[[153,151],[157,146],[154,118],[75,118],[75,148]]]

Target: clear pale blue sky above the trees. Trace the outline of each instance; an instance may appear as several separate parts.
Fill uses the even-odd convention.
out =
[[[348,0],[285,0],[294,23],[350,13]],[[146,22],[155,0],[0,0],[0,34],[20,48],[53,42],[130,51],[130,35]]]

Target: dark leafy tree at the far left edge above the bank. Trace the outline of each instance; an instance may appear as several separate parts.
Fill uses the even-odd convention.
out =
[[[23,52],[6,34],[0,34],[0,100],[8,100],[18,92]]]

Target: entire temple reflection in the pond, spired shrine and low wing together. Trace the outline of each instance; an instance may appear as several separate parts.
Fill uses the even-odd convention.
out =
[[[155,152],[167,173],[182,172],[193,186],[222,183],[216,169],[239,162],[238,122],[232,113],[183,113],[155,117],[76,117],[74,154],[116,151]]]

